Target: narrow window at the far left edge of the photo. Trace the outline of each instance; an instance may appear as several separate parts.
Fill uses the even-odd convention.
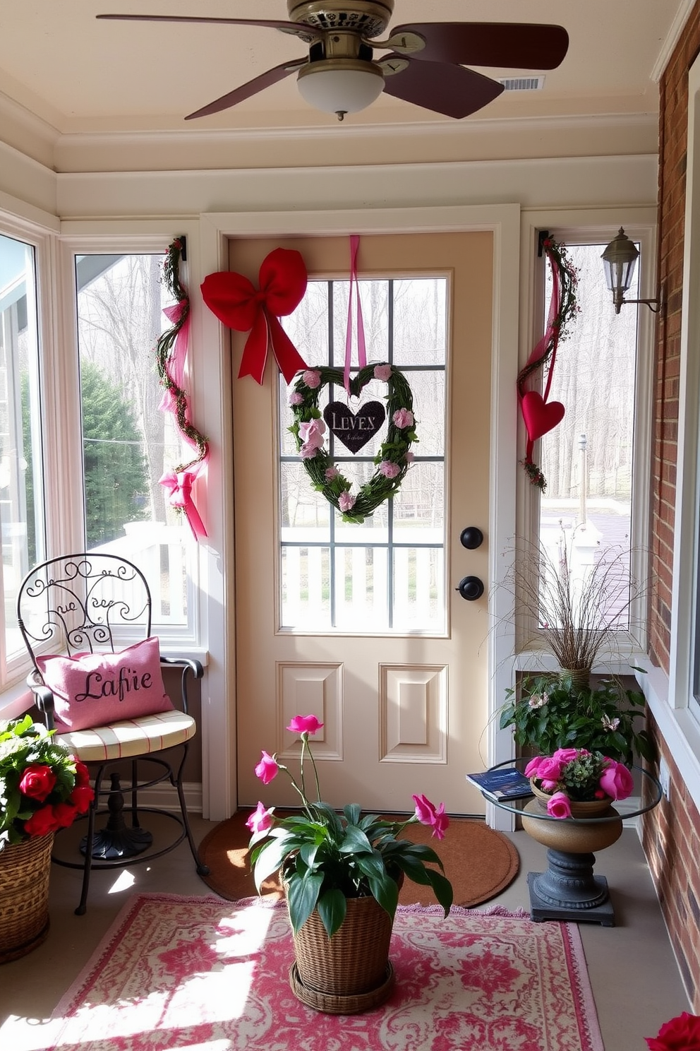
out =
[[[15,601],[44,554],[39,349],[35,249],[0,235],[0,685],[24,660]]]

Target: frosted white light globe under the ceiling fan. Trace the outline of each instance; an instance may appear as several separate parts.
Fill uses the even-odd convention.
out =
[[[384,90],[381,69],[372,62],[330,59],[302,66],[297,77],[304,102],[323,114],[358,114]]]

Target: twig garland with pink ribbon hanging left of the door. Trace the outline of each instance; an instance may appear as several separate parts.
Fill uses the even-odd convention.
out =
[[[176,301],[173,306],[164,309],[165,315],[172,322],[172,328],[160,336],[155,345],[155,356],[161,385],[164,388],[161,409],[172,412],[177,429],[197,454],[193,459],[178,463],[172,471],[166,471],[160,482],[168,490],[170,506],[185,514],[195,538],[201,539],[207,536],[207,530],[194,506],[192,483],[207,462],[209,442],[189,418],[187,393],[183,389],[190,326],[190,301],[179,280],[182,254],[183,242],[179,238],[175,238],[168,246],[163,264],[163,282]]]

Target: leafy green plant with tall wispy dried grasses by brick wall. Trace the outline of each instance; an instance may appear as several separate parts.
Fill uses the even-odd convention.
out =
[[[623,551],[575,566],[576,533],[561,529],[554,549],[516,545],[508,586],[518,612],[536,623],[538,642],[554,655],[559,672],[524,673],[517,689],[507,692],[500,725],[512,726],[516,744],[540,754],[575,746],[628,764],[635,751],[653,760],[652,738],[638,725],[643,694],[615,676],[591,681],[594,664],[614,642],[641,588],[630,581]]]

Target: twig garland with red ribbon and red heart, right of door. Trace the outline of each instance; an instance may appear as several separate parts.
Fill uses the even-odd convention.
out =
[[[577,312],[576,271],[567,256],[566,247],[551,238],[546,238],[543,250],[552,268],[552,295],[547,314],[547,327],[542,339],[528,357],[517,375],[517,398],[527,432],[525,459],[521,462],[533,486],[543,492],[547,481],[542,469],[532,460],[532,450],[537,438],[542,438],[564,419],[565,407],[560,401],[548,401],[554,375],[554,363],[559,343],[566,337],[566,327]],[[527,380],[549,362],[544,395],[538,390],[528,390]]]

